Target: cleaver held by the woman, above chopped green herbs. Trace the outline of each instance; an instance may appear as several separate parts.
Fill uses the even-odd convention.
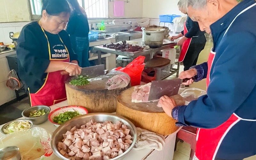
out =
[[[105,69],[104,65],[84,67],[84,68],[82,68],[81,75],[88,76],[89,78],[102,76],[102,75],[105,75],[104,69]],[[69,73],[66,71],[62,71],[61,74],[64,75],[64,74],[69,74]]]

